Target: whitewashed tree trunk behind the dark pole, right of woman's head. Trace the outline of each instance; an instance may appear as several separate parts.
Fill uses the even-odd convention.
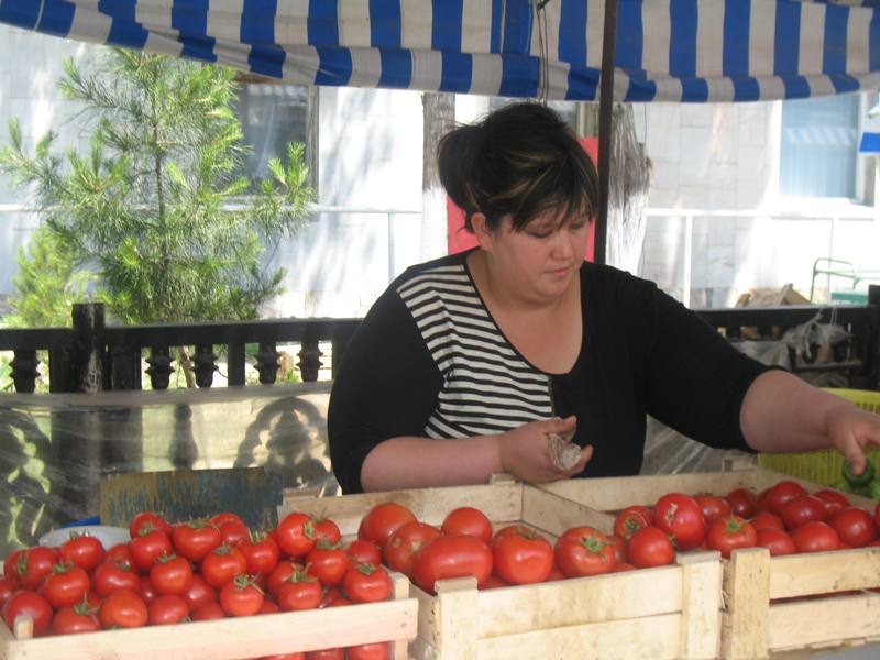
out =
[[[585,103],[582,131],[598,134],[598,103]],[[645,145],[636,139],[630,103],[615,103],[613,109],[610,180],[606,261],[639,274],[645,243],[645,207],[651,187],[651,161]]]

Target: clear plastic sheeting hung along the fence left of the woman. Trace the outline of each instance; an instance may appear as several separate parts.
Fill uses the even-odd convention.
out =
[[[262,466],[339,493],[329,382],[211,391],[0,396],[0,557],[95,517],[109,474]]]

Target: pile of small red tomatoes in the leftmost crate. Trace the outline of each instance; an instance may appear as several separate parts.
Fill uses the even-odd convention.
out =
[[[72,535],[57,548],[16,550],[3,562],[0,613],[33,620],[34,635],[68,635],[386,601],[392,579],[378,548],[342,548],[329,518],[290,514],[251,532],[230,513],[170,525],[138,514],[131,540],[109,549]],[[381,660],[387,642],[265,660]]]

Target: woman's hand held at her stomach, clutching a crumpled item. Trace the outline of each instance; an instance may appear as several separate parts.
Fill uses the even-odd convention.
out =
[[[581,450],[581,459],[570,470],[560,470],[550,457],[549,435],[565,436],[578,427],[578,419],[546,419],[530,421],[498,436],[498,457],[502,469],[526,482],[546,483],[570,479],[583,471],[593,455],[593,447]]]

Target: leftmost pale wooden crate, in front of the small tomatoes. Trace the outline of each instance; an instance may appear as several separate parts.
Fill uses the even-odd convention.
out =
[[[385,640],[403,660],[416,636],[418,602],[406,576],[394,578],[391,601],[327,609],[38,638],[26,617],[15,635],[0,620],[0,660],[237,660]]]

